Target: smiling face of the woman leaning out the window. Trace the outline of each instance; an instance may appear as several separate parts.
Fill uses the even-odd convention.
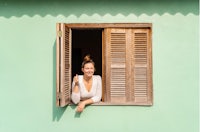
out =
[[[84,67],[82,68],[82,72],[87,77],[92,77],[92,75],[94,74],[94,65],[93,65],[93,63],[86,63],[84,65]]]

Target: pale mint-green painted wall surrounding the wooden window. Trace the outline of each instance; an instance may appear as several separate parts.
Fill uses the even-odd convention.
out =
[[[198,0],[0,1],[0,132],[198,132]],[[57,22],[153,24],[154,105],[55,106]]]

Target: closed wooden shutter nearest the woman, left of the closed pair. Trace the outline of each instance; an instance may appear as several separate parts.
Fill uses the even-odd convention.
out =
[[[126,29],[105,29],[106,38],[106,93],[107,101],[125,103],[127,101],[127,42],[130,38]]]

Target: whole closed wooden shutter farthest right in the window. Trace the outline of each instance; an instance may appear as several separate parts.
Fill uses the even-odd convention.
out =
[[[132,87],[135,104],[152,104],[150,29],[133,29]]]

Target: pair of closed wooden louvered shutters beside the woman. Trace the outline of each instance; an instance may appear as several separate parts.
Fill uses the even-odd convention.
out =
[[[151,105],[150,29],[105,29],[106,101]]]

